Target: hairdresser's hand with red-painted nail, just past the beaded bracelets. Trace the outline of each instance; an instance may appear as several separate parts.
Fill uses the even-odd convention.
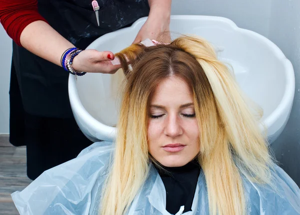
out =
[[[72,67],[78,72],[114,74],[121,65],[113,65],[110,62],[113,59],[114,55],[110,51],[86,49],[74,57]]]

